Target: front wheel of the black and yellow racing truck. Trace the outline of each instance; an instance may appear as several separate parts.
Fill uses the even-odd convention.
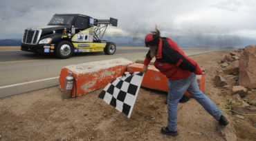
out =
[[[61,41],[56,47],[56,56],[58,58],[69,58],[73,55],[74,47],[68,41]]]

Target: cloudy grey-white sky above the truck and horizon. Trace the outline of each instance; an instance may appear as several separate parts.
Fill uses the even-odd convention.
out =
[[[47,25],[53,14],[118,19],[108,36],[232,36],[256,39],[255,0],[0,0],[0,39],[21,39],[25,28]]]

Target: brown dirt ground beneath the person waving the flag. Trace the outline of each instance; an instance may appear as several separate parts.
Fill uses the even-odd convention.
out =
[[[226,108],[231,88],[214,87],[221,56],[211,52],[192,56],[205,75],[205,95],[219,108]],[[102,88],[103,89],[103,88]],[[167,125],[166,93],[141,88],[131,118],[107,105],[98,94],[62,101],[59,87],[0,99],[0,140],[255,140],[255,116],[237,118],[223,111],[230,121],[220,127],[193,98],[179,104],[176,137],[161,134]]]

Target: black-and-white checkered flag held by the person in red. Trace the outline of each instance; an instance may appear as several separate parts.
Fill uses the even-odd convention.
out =
[[[130,118],[143,76],[143,72],[125,72],[122,76],[112,80],[101,91],[98,98],[102,98],[107,104]]]

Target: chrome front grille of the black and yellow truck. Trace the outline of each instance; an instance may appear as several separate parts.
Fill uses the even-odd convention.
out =
[[[38,43],[42,30],[26,29],[24,31],[22,43],[35,45]]]

